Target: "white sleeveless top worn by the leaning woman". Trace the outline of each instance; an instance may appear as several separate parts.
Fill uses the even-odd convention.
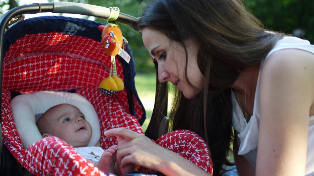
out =
[[[239,146],[239,155],[243,155],[246,160],[253,166],[256,166],[257,143],[258,143],[258,127],[260,122],[260,102],[259,102],[259,78],[261,70],[269,55],[280,49],[302,49],[314,54],[314,45],[309,41],[296,37],[284,37],[279,40],[274,48],[268,53],[265,60],[262,61],[255,91],[253,115],[247,123],[241,108],[232,93],[233,117],[232,126],[237,131],[237,142]],[[231,91],[232,92],[232,91]],[[309,117],[309,134],[306,155],[306,176],[314,175],[314,115]]]

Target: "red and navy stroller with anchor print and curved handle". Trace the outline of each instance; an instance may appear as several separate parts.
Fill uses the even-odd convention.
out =
[[[99,117],[101,134],[115,127],[126,127],[143,133],[140,125],[145,120],[145,110],[134,85],[135,66],[131,49],[124,41],[123,49],[131,58],[129,63],[116,56],[117,75],[123,80],[125,89],[111,96],[103,95],[98,85],[111,70],[111,63],[108,61],[110,56],[99,47],[101,32],[98,26],[103,24],[78,18],[46,16],[23,20],[9,28],[3,35],[8,21],[13,17],[40,12],[76,13],[101,18],[111,16],[109,8],[54,2],[20,6],[0,18],[3,133],[1,145],[4,144],[1,146],[2,175],[106,175],[86,159],[76,155],[71,146],[57,137],[46,137],[32,144],[27,150],[24,149],[16,132],[10,101],[14,96],[23,93],[47,90],[75,92],[84,96],[94,106]],[[116,21],[136,28],[137,18],[120,13]],[[158,79],[156,82],[158,83]],[[158,85],[161,89],[156,88],[156,95],[161,95],[162,101],[165,101],[166,83]],[[157,107],[156,101],[160,100],[155,100],[153,115],[145,132],[145,135],[153,140],[165,134],[168,127],[167,119],[163,116],[167,112],[167,107]],[[104,102],[110,102],[110,105],[104,106]],[[109,122],[108,116],[125,118],[112,123]],[[171,138],[176,137],[180,142],[182,138],[191,141],[187,145],[183,141],[184,149],[189,150],[181,151],[182,156],[208,173],[213,172],[208,148],[194,133],[184,130],[169,135],[167,133],[156,142],[176,152],[181,149],[179,144],[171,144]],[[170,143],[166,142],[168,138]],[[198,146],[192,141],[197,141]],[[57,148],[62,156],[54,153],[55,151],[48,154],[47,148],[51,148],[51,145]],[[101,148],[108,148],[111,145],[116,145],[116,138],[100,137]],[[192,156],[191,152],[195,150],[201,152],[193,153]],[[201,158],[207,158],[207,162]],[[151,172],[143,167],[139,171]]]

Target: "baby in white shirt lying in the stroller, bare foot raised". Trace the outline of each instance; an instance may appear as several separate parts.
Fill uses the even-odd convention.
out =
[[[105,173],[120,175],[121,173],[126,174],[134,170],[133,164],[123,168],[117,166],[116,151],[118,146],[116,145],[105,151],[100,147],[86,147],[92,136],[92,127],[76,106],[59,104],[51,107],[39,118],[37,127],[42,137],[59,137],[69,145],[72,145],[85,158],[89,159],[86,156],[92,155],[90,158],[94,159],[89,159],[89,161]]]

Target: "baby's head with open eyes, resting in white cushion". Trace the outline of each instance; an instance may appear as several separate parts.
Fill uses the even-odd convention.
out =
[[[48,109],[38,120],[42,137],[56,136],[73,147],[87,146],[92,127],[84,114],[70,104],[59,104]]]

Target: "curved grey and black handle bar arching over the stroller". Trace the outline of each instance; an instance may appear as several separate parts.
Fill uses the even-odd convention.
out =
[[[82,4],[82,3],[69,3],[69,2],[53,2],[53,3],[35,3],[19,6],[9,10],[7,13],[4,13],[0,17],[0,92],[2,92],[2,63],[3,63],[3,38],[5,28],[9,21],[19,15],[23,14],[35,14],[35,13],[43,13],[43,12],[52,12],[52,13],[73,13],[73,14],[81,14],[94,16],[99,18],[107,19],[110,16],[110,9],[90,4]],[[133,16],[119,13],[117,22],[129,25],[130,27],[136,29],[136,25],[138,23],[138,18]],[[1,104],[0,99],[0,104]],[[1,108],[2,111],[2,108]],[[2,119],[0,118],[0,123],[2,124]]]

